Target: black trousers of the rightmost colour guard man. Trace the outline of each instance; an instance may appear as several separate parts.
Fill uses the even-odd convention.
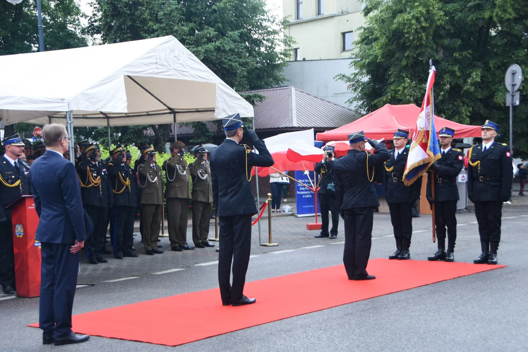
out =
[[[473,202],[480,242],[501,242],[502,202]]]

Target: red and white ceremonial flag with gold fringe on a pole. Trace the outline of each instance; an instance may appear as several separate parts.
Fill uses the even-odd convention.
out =
[[[403,173],[403,183],[407,186],[424,174],[429,166],[441,157],[436,137],[435,119],[433,118],[432,85],[435,83],[435,73],[435,66],[431,66],[426,95],[423,97],[420,114],[416,120],[409,157]]]

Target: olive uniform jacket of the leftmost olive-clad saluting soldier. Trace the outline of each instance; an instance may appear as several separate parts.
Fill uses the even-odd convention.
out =
[[[154,168],[150,166],[150,161],[138,165],[137,174],[139,177],[139,188],[141,189],[141,204],[163,205],[163,173],[162,168],[154,163]]]

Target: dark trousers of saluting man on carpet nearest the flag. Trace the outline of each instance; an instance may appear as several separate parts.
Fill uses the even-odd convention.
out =
[[[343,264],[349,279],[367,275],[366,265],[370,258],[372,245],[372,223],[374,208],[362,207],[346,209],[345,221],[345,249]]]

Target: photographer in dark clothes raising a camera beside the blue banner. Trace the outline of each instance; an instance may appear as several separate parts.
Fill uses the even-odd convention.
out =
[[[332,183],[332,163],[334,160],[334,148],[326,146],[324,149],[323,160],[315,165],[315,172],[320,174],[319,191],[319,205],[321,207],[321,232],[315,236],[316,239],[321,237],[328,237],[330,239],[337,238],[337,226],[339,225],[339,208],[335,202],[334,192],[328,191],[328,184]],[[328,233],[328,211],[332,214],[332,229]]]

